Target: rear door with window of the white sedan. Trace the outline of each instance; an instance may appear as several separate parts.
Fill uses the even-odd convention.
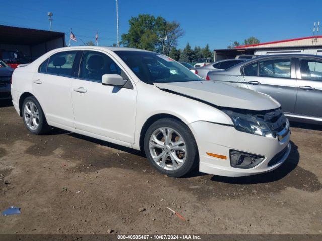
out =
[[[75,127],[71,85],[76,53],[77,51],[65,51],[52,55],[33,76],[33,92],[47,121],[62,128]]]

